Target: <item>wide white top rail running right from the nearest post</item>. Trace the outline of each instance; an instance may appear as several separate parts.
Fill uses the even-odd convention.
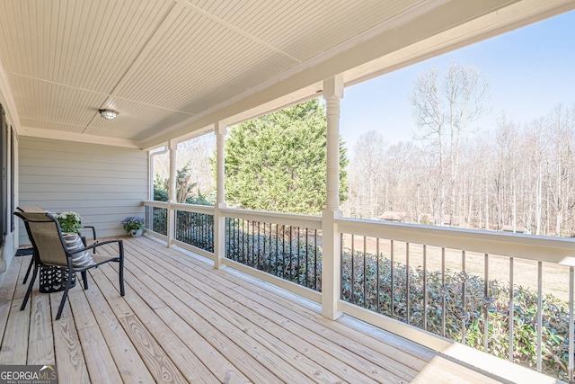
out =
[[[340,233],[575,265],[575,239],[571,238],[535,237],[477,229],[427,227],[362,219],[337,219],[336,224]]]

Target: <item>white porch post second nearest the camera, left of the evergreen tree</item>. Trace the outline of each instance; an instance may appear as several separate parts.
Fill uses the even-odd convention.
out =
[[[226,157],[227,126],[216,123],[216,207],[214,209],[214,268],[224,265],[226,258],[226,217],[222,209],[226,208],[226,173],[224,159]]]

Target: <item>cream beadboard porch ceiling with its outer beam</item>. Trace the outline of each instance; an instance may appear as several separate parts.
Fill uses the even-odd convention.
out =
[[[359,81],[573,7],[572,0],[2,0],[0,91],[21,135],[152,147],[309,97],[330,76]],[[119,117],[105,121],[100,108]]]

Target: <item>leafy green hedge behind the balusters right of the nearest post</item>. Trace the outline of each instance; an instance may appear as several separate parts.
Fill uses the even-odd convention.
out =
[[[443,285],[441,272],[428,271],[425,273],[428,305],[424,308],[421,267],[408,269],[401,263],[394,263],[392,284],[389,259],[380,257],[377,260],[374,255],[364,258],[363,253],[357,252],[353,256],[350,253],[343,255],[341,270],[341,299],[403,322],[409,318],[412,326],[442,335],[445,297],[445,337],[483,351],[483,330],[487,321],[488,351],[484,352],[509,359],[509,284],[488,281],[489,295],[486,297],[485,280],[479,276],[447,270]],[[408,280],[409,284],[406,283]],[[513,362],[535,369],[537,292],[517,286],[513,295]],[[547,294],[543,298],[542,312],[543,371],[569,381],[569,303]],[[427,324],[424,324],[424,314]]]

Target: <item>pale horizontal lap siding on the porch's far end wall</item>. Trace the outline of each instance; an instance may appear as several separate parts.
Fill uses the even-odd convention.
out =
[[[144,217],[148,199],[146,151],[48,138],[19,142],[19,201],[45,210],[74,210],[98,237],[125,235],[127,216]],[[29,243],[21,226],[20,243]]]

